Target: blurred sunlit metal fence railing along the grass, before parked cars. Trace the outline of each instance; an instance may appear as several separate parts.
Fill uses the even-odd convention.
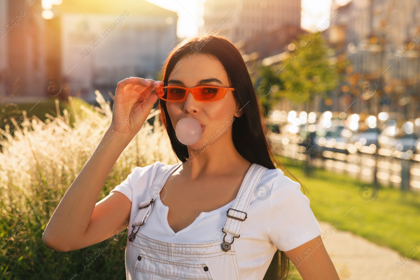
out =
[[[357,144],[318,141],[299,143],[299,136],[270,133],[271,146],[276,154],[303,162],[305,169],[323,167],[334,173],[347,173],[354,179],[376,186],[392,186],[402,190],[420,191],[420,154],[411,150],[399,152]],[[309,172],[309,171],[308,171]]]

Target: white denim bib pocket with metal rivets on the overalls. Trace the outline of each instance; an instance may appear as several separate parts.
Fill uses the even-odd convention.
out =
[[[174,262],[142,253],[137,256],[133,273],[133,280],[213,280],[205,263]]]

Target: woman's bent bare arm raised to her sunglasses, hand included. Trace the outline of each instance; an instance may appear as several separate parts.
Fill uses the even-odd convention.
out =
[[[118,234],[128,225],[131,201],[125,195],[115,192],[98,203],[97,199],[121,152],[142,127],[157,100],[155,94],[150,94],[155,86],[150,81],[147,84],[145,79],[135,78],[118,83],[110,127],[45,228],[42,240],[49,248],[56,251],[84,248]]]

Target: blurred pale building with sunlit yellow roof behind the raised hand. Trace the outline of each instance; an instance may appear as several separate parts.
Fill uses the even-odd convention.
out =
[[[177,41],[176,12],[144,0],[106,2],[89,1],[79,9],[64,0],[59,6],[61,76],[91,97],[95,89],[115,91],[130,76],[156,79]]]

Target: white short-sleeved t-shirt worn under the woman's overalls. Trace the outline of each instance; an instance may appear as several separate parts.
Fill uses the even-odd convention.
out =
[[[131,222],[146,200],[147,190],[157,175],[167,166],[155,162],[135,167],[125,181],[111,192],[125,194],[132,202]],[[277,249],[289,251],[320,235],[321,230],[309,206],[309,199],[280,169],[268,169],[259,186],[267,193],[252,196],[247,220],[241,225],[240,238],[235,238],[236,259],[241,279],[262,279]],[[194,199],[194,198],[189,198]],[[205,243],[221,233],[226,222],[226,210],[234,200],[211,212],[201,212],[186,228],[174,233],[168,224],[169,207],[154,202],[150,216],[139,232],[163,242]]]

